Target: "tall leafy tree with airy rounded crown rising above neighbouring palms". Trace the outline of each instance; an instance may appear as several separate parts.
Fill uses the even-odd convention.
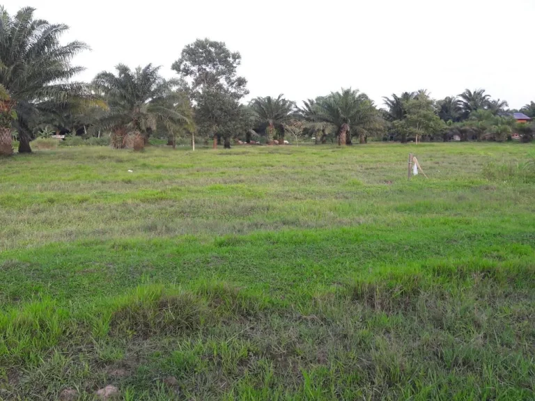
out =
[[[199,133],[212,136],[214,148],[219,138],[230,148],[231,136],[238,134],[249,118],[240,105],[249,93],[247,80],[238,75],[241,59],[240,53],[228,50],[224,42],[197,39],[183,49],[171,67],[194,103]]]

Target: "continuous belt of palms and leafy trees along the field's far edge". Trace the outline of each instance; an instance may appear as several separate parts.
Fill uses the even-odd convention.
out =
[[[114,148],[141,149],[150,136],[176,138],[214,146],[224,142],[282,143],[285,134],[308,136],[316,143],[366,143],[369,137],[406,141],[532,141],[534,125],[517,124],[507,102],[483,89],[457,97],[432,99],[425,90],[384,98],[384,108],[351,88],[303,102],[249,93],[238,75],[241,55],[224,42],[199,39],[187,45],[171,66],[174,79],[160,76],[153,65],[116,74],[100,72],[91,83],[72,81],[83,70],[70,60],[87,49],[82,42],[61,45],[67,26],[33,19],[32,8],[15,15],[1,9],[0,155],[31,152],[30,141],[51,134],[111,137]],[[520,109],[535,117],[535,103]]]

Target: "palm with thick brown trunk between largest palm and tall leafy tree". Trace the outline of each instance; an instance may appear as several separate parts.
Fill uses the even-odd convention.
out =
[[[172,98],[177,95],[173,88],[178,82],[162,78],[160,67],[148,64],[132,71],[119,64],[116,70],[116,75],[103,71],[93,79],[93,86],[109,104],[109,111],[100,118],[99,126],[114,132],[115,145],[122,146],[121,141],[128,132],[141,134],[147,143],[158,121],[169,124],[187,121],[172,107]]]

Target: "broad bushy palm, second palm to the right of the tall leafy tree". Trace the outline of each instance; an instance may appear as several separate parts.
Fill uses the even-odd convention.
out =
[[[339,146],[350,145],[352,133],[359,134],[360,143],[378,126],[378,111],[369,97],[351,88],[331,93],[316,104],[316,120],[336,130]]]

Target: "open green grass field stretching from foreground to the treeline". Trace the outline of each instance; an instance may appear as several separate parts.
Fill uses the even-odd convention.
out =
[[[428,179],[408,182],[409,152]],[[534,158],[373,143],[0,159],[0,399],[535,399]]]

